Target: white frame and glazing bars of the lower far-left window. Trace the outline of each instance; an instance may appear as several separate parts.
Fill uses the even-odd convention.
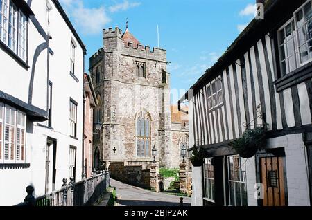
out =
[[[2,125],[2,131],[0,132],[0,136],[1,136],[0,164],[1,163],[4,163],[4,164],[25,163],[26,161],[26,114],[3,103],[0,103],[0,108],[2,110],[1,117],[0,117],[0,123]],[[9,122],[6,121],[6,113],[8,111],[9,111],[8,113]],[[13,116],[13,119],[12,119],[12,116]],[[18,122],[19,116],[21,117],[21,123]],[[12,120],[13,120],[13,123],[12,123]],[[6,127],[9,128],[8,140],[6,140]],[[18,130],[21,132],[19,134],[20,135],[19,139],[17,138]],[[11,131],[13,131],[13,134]],[[24,142],[21,142],[22,135],[24,135]],[[8,145],[7,150],[6,150],[6,145]],[[13,149],[13,153],[12,153],[12,149]],[[17,149],[19,149],[19,158],[17,158]],[[8,152],[8,157],[6,157],[6,152]],[[11,154],[13,154],[13,158],[11,157]],[[21,158],[21,156],[23,157]]]

